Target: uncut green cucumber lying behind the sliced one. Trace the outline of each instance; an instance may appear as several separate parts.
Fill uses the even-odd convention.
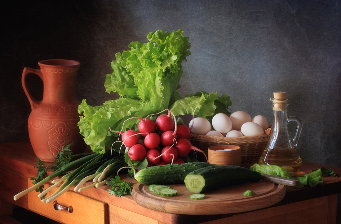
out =
[[[135,179],[142,184],[166,185],[170,183],[183,183],[186,175],[194,170],[206,166],[217,166],[207,162],[190,162],[182,164],[167,164],[160,166],[150,166],[138,171]]]

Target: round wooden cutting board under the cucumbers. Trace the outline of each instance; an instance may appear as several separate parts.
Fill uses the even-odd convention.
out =
[[[204,199],[190,199],[192,194],[183,185],[167,185],[178,191],[177,196],[166,197],[148,190],[148,185],[137,183],[133,188],[135,202],[156,211],[174,214],[227,214],[265,208],[280,202],[285,196],[284,185],[270,182],[244,183],[205,193]],[[247,190],[254,196],[243,196]]]

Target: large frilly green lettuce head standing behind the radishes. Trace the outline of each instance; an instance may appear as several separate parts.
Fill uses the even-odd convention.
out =
[[[177,115],[193,114],[210,119],[215,112],[230,115],[229,96],[218,97],[217,92],[198,92],[179,96],[182,61],[190,55],[189,37],[179,29],[172,33],[158,30],[147,35],[148,43],[131,42],[130,50],[118,52],[112,61],[113,73],[107,74],[107,93],[117,92],[118,99],[108,100],[102,106],[90,106],[84,99],[78,106],[81,114],[78,126],[91,150],[105,153],[117,141],[117,133],[133,129],[137,119],[170,109]],[[119,147],[118,147],[119,148]]]

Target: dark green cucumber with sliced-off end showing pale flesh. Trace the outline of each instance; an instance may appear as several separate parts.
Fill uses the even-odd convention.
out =
[[[241,166],[208,166],[195,170],[185,177],[187,190],[201,193],[229,185],[258,182],[262,174]]]

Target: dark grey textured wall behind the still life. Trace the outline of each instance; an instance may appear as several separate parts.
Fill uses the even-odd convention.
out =
[[[183,63],[181,96],[197,91],[231,96],[232,112],[262,114],[286,91],[288,115],[303,130],[303,160],[341,167],[341,2],[260,1],[30,1],[9,2],[1,14],[0,141],[28,138],[30,105],[21,87],[25,66],[44,59],[82,65],[77,98],[92,106],[116,98],[104,89],[115,53],[147,42],[159,29],[183,29],[191,55]],[[42,81],[29,79],[39,99]]]

